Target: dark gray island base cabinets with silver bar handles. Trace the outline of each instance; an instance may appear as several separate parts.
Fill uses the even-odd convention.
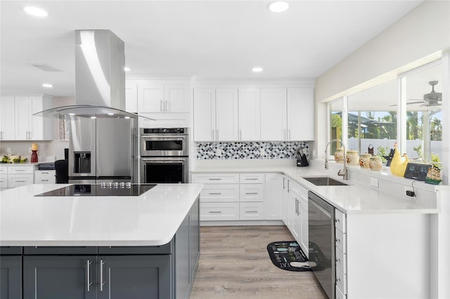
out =
[[[172,241],[162,246],[37,246],[17,255],[5,255],[2,247],[1,299],[189,298],[199,229],[197,199]]]

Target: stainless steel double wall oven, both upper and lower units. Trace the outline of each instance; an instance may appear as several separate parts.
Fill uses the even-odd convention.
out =
[[[141,128],[141,183],[188,182],[188,128]]]

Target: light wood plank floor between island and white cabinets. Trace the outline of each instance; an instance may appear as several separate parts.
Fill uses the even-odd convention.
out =
[[[266,246],[294,240],[285,226],[200,227],[191,299],[327,298],[311,272],[281,270]]]

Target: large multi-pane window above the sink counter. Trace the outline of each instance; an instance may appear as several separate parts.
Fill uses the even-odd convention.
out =
[[[383,161],[398,141],[400,154],[440,164],[441,81],[442,65],[437,61],[328,103],[330,140],[340,139],[349,149],[371,152]],[[333,143],[330,154],[336,148]]]

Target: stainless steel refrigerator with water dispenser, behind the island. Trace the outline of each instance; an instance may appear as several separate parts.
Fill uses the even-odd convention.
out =
[[[70,117],[69,182],[137,182],[136,121]]]

